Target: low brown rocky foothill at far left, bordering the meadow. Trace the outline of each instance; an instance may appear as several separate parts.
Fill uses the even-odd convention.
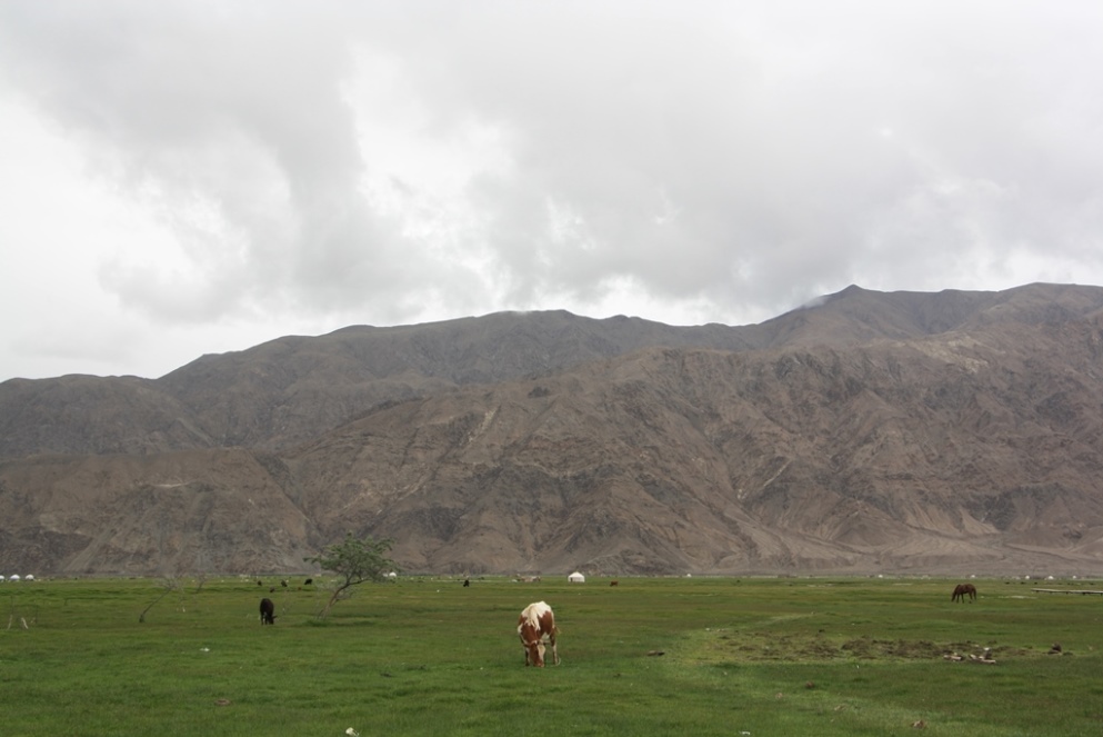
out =
[[[0,462],[6,572],[288,571],[317,549],[294,484],[241,449]]]

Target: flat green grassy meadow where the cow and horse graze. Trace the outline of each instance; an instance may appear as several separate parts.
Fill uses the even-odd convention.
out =
[[[1103,596],[1035,581],[953,604],[920,578],[400,578],[319,619],[324,585],[263,580],[0,585],[0,733],[1103,734]],[[541,599],[563,661],[525,668]]]

